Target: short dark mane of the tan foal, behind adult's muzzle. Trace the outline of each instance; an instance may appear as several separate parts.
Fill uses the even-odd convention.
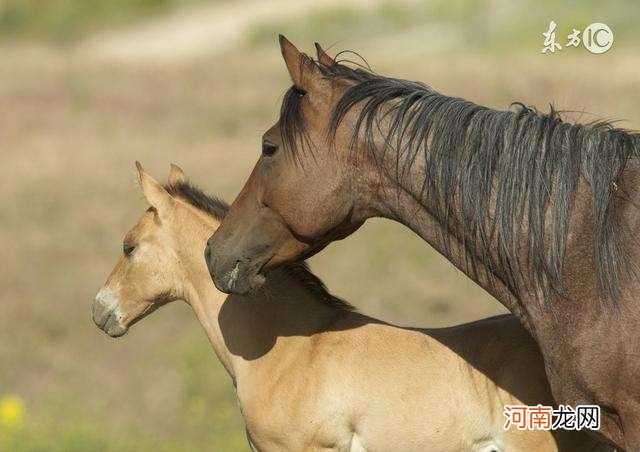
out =
[[[218,221],[222,221],[229,205],[215,196],[205,194],[200,188],[188,181],[175,184],[167,184],[165,190],[171,195],[184,200],[202,212],[211,215]],[[355,308],[347,301],[332,295],[320,278],[314,275],[306,262],[298,262],[286,265],[282,271],[287,277],[301,283],[307,290],[313,293],[322,303],[344,311],[353,311]]]

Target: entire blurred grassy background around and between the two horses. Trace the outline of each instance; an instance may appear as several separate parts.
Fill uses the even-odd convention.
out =
[[[248,449],[231,381],[185,305],[112,340],[90,303],[146,208],[135,160],[238,192],[289,84],[278,33],[495,108],[553,102],[637,128],[639,19],[632,0],[0,2],[0,451]],[[614,47],[542,55],[550,20],[561,44],[604,22]],[[390,222],[311,264],[387,321],[503,312]]]

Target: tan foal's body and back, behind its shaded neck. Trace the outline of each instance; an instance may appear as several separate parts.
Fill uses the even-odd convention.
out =
[[[289,429],[293,449],[595,450],[584,433],[503,429],[504,405],[553,404],[537,346],[512,316],[418,330],[348,313],[306,345],[288,340],[296,358],[274,372],[258,430]]]

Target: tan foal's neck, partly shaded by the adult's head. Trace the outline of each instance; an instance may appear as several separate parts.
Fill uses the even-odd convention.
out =
[[[277,272],[251,296],[227,296],[215,288],[206,268],[201,273],[187,302],[236,383],[259,378],[289,357],[300,358],[300,347],[311,335],[341,315],[304,284]]]

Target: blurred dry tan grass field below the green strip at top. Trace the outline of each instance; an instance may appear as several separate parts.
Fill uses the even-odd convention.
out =
[[[544,109],[553,100],[640,126],[631,54],[363,53],[381,73],[479,103]],[[277,47],[163,67],[24,46],[2,55],[0,397],[26,400],[23,446],[51,450],[38,438],[56,438],[60,450],[242,450],[232,385],[185,306],[163,308],[121,340],[99,332],[89,311],[145,208],[134,160],[158,178],[179,163],[227,199],[240,189],[288,85]],[[439,326],[503,311],[386,221],[311,264],[336,294],[389,321]]]

